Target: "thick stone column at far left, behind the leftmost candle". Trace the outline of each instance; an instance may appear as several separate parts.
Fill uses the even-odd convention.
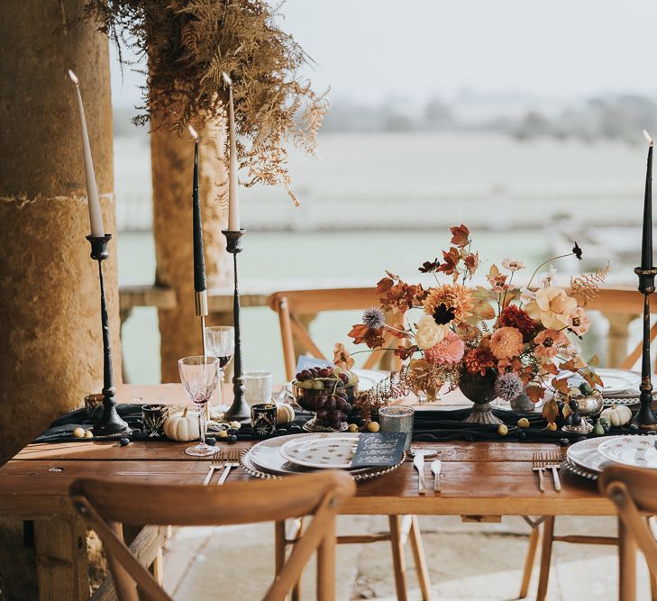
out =
[[[100,392],[97,263],[75,87],[80,80],[103,205],[114,229],[108,41],[93,23],[64,31],[83,0],[0,3],[0,462]],[[105,261],[114,377],[121,378],[116,241]]]

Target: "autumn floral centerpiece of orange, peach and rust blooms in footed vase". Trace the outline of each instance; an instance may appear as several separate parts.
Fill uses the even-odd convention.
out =
[[[392,376],[395,393],[406,389],[431,399],[441,389],[459,387],[474,403],[466,422],[501,423],[490,409],[497,397],[511,401],[525,393],[534,403],[548,392],[552,397],[568,390],[563,372],[598,384],[597,360],[583,360],[578,341],[591,323],[584,307],[597,295],[607,269],[570,278],[568,288],[554,285],[552,265],[539,274],[552,260],[581,260],[575,243],[569,254],[534,269],[524,287],[517,280],[525,263],[510,259],[500,267],[491,264],[480,280],[486,285],[476,285],[473,278],[482,262],[471,248],[470,231],[465,225],[451,231],[443,260],[419,268],[433,275],[435,285],[409,284],[387,272],[376,288],[379,307],[365,311],[362,323],[349,332],[355,343],[371,351],[392,350],[404,361]],[[334,360],[345,367],[352,363],[342,344],[336,345]],[[370,396],[370,403],[378,401]],[[553,422],[552,405],[546,405],[544,414]]]

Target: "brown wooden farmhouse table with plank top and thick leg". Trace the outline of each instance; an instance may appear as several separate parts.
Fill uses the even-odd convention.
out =
[[[187,404],[179,385],[123,386],[123,403]],[[135,400],[141,399],[141,400]],[[224,443],[221,443],[224,445]],[[236,442],[245,450],[253,442]],[[199,484],[209,459],[185,454],[188,442],[63,442],[29,444],[0,468],[0,514],[34,523],[40,599],[87,599],[86,527],[68,499],[77,478],[104,478],[157,484]],[[593,482],[561,471],[561,492],[546,474],[539,492],[532,454],[554,451],[536,442],[414,443],[439,451],[442,491],[417,493],[417,472],[410,461],[396,471],[362,482],[343,514],[461,515],[486,520],[501,515],[613,515],[614,506]],[[226,445],[227,448],[228,445]],[[433,481],[428,474],[427,481]],[[229,481],[251,478],[233,470]],[[215,481],[215,480],[214,480]],[[429,487],[428,487],[429,488]],[[134,500],[139,503],[139,499]]]

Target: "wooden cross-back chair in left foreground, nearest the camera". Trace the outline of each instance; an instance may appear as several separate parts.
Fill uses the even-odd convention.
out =
[[[284,601],[312,554],[317,552],[317,599],[335,597],[335,516],[355,493],[344,471],[324,471],[280,480],[238,482],[224,487],[75,481],[73,505],[96,531],[107,553],[119,601],[172,601],[123,542],[122,524],[204,526],[275,522],[313,515],[290,553],[276,556],[276,577],[264,601]],[[139,502],[135,502],[139,499]]]

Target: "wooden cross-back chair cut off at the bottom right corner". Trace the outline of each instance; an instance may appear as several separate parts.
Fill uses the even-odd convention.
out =
[[[657,572],[657,542],[646,516],[657,514],[657,473],[651,469],[615,465],[605,469],[598,487],[618,512],[618,568],[620,601],[636,598],[636,547],[638,546],[651,573],[652,599]]]

